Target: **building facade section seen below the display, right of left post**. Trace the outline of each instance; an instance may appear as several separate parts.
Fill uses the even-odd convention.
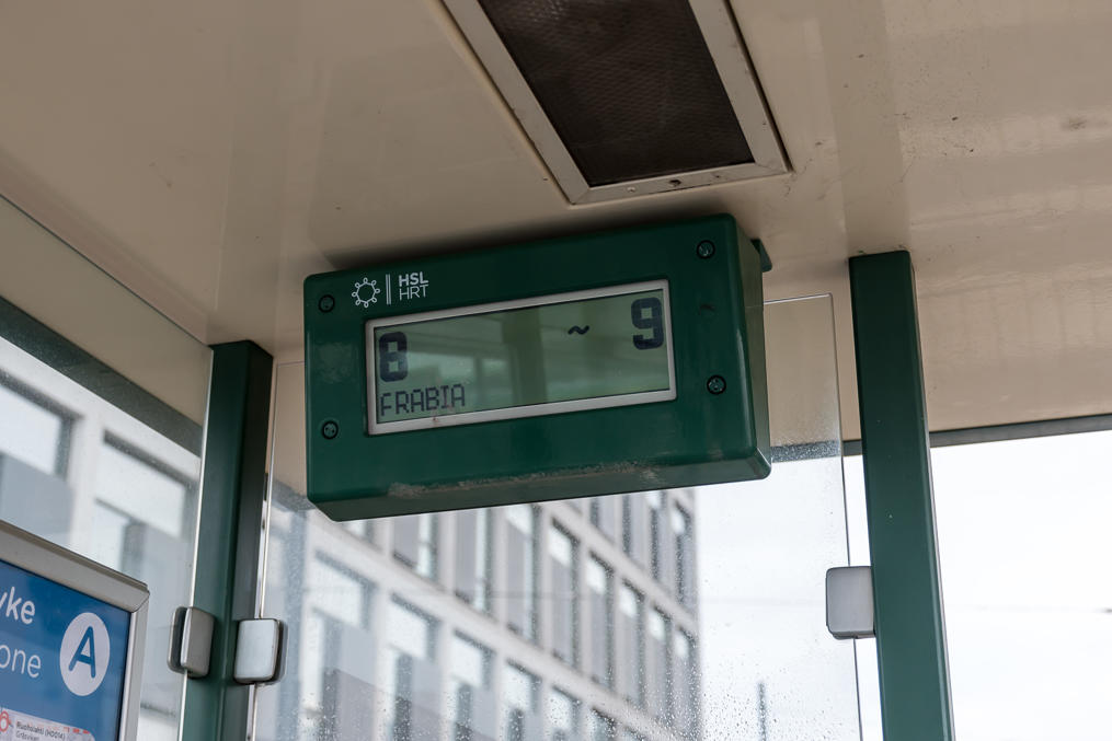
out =
[[[693,499],[334,523],[272,492],[256,738],[698,738]]]

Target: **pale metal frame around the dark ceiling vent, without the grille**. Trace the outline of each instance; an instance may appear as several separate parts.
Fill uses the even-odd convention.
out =
[[[443,0],[568,201],[598,203],[784,174],[787,159],[727,0],[687,0],[714,60],[753,162],[592,187],[518,70],[478,0]]]

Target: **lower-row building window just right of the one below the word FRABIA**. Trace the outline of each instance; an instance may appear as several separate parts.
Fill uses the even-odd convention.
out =
[[[492,652],[460,633],[451,639],[448,719],[453,741],[490,738],[495,712],[490,693]]]

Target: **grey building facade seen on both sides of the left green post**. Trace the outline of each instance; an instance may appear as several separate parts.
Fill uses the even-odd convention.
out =
[[[176,739],[200,429],[0,343],[0,518],[150,585],[139,738]],[[693,523],[687,490],[336,523],[275,481],[265,614],[288,642],[254,738],[698,738]]]

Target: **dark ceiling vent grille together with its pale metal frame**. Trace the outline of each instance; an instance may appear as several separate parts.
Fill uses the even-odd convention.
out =
[[[445,0],[573,203],[786,171],[725,0]]]

